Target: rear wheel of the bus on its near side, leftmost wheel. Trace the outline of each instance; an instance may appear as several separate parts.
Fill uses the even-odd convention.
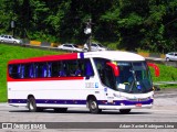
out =
[[[35,103],[35,99],[33,97],[30,97],[28,99],[28,109],[30,112],[37,112],[37,103]]]

